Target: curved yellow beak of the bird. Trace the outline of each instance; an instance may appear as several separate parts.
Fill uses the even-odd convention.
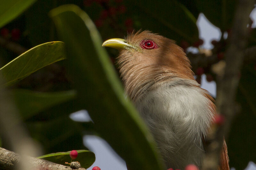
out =
[[[131,44],[128,44],[125,39],[108,39],[102,44],[102,46],[108,46],[116,49],[134,48],[139,50]]]

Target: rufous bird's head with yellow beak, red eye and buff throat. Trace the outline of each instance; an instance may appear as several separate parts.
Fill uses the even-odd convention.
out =
[[[132,99],[167,79],[194,79],[182,48],[171,39],[150,31],[133,32],[125,39],[108,39],[102,46],[120,50],[117,64]]]

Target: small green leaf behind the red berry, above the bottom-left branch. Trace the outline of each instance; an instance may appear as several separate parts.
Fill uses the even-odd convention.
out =
[[[38,159],[45,159],[51,162],[66,165],[65,162],[69,162],[71,160],[69,156],[70,151],[68,152],[57,152],[57,153],[50,153],[47,155],[43,155],[37,157]],[[95,154],[88,150],[77,150],[78,156],[74,161],[78,161],[83,168],[90,167],[93,162],[95,161]]]

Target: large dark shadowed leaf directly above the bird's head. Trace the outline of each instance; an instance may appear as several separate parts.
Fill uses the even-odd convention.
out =
[[[169,1],[126,1],[130,16],[138,17],[137,29],[150,30],[178,43],[198,40],[195,16],[177,0]],[[136,18],[135,18],[136,20]],[[161,26],[160,26],[161,25]]]

